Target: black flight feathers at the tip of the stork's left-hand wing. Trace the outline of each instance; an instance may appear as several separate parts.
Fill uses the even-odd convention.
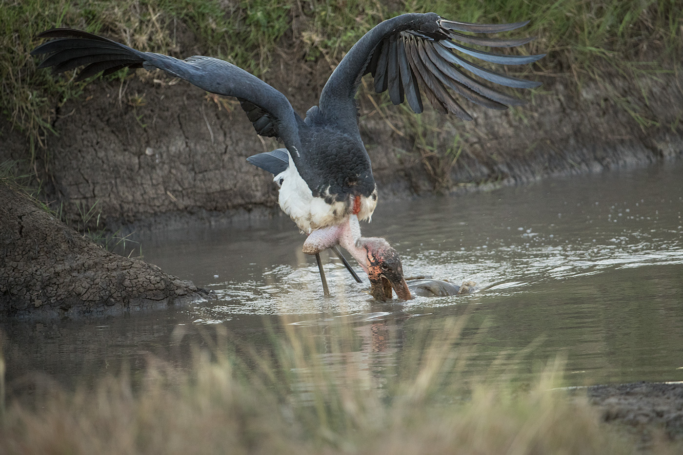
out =
[[[122,68],[142,68],[145,53],[86,31],[51,29],[38,38],[58,38],[41,44],[31,55],[51,54],[38,68],[52,67],[55,74],[85,66],[76,80],[100,72],[111,74]]]

